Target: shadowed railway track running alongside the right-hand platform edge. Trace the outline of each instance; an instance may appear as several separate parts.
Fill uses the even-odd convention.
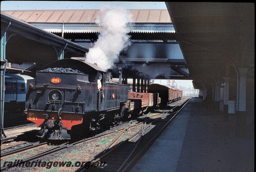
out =
[[[189,100],[190,99],[188,99],[187,102]],[[182,102],[182,103],[185,103],[185,102]],[[154,119],[152,122],[148,124],[145,122],[143,127],[138,133],[126,139],[122,144],[116,146],[111,150],[110,149],[103,150],[102,152],[97,154],[95,157],[93,157],[89,161],[91,162],[90,166],[88,165],[86,166],[85,164],[84,166],[77,169],[76,172],[130,171],[132,167],[135,165],[135,163],[144,155],[144,153],[146,153],[146,151],[153,144],[156,138],[158,138],[161,135],[161,133],[172,121],[172,119],[185,106],[185,104],[179,110],[177,110],[176,113],[173,115],[167,116],[169,112],[172,112],[172,110],[169,110],[167,112],[162,113],[159,118]],[[165,118],[162,119],[163,117]],[[93,168],[95,167],[95,163],[99,161],[106,162],[107,165],[100,168]]]

